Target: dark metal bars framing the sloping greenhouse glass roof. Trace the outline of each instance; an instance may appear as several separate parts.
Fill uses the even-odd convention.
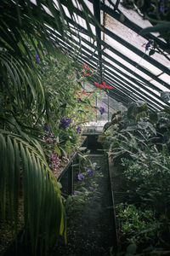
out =
[[[120,15],[122,12],[118,9],[120,1],[116,1],[116,4],[111,3],[112,8],[105,5],[100,0],[88,0],[89,3],[93,3],[94,6],[94,15],[96,20],[100,22],[100,14],[101,11],[105,12],[107,15],[111,15],[112,18],[122,22],[120,20]],[[109,1],[111,2],[111,1]],[[62,2],[65,5],[65,1]],[[65,5],[66,7],[66,5]],[[83,17],[82,11],[75,7],[75,13],[80,17]],[[59,44],[59,46],[63,49],[68,50],[72,55],[77,57],[79,62],[85,62],[88,66],[97,70],[96,79],[99,83],[105,81],[109,85],[113,86],[113,89],[109,90],[109,96],[116,99],[118,102],[122,102],[125,106],[127,106],[128,102],[135,102],[137,100],[143,100],[148,103],[150,110],[161,110],[161,108],[170,107],[170,103],[163,102],[161,99],[161,89],[159,86],[150,83],[149,80],[144,79],[138,72],[133,71],[133,75],[128,75],[127,73],[131,73],[131,69],[126,65],[122,64],[121,61],[117,61],[111,55],[108,55],[105,52],[105,49],[109,49],[114,55],[120,57],[123,61],[127,61],[133,67],[137,67],[139,71],[150,77],[150,79],[155,80],[157,83],[163,85],[167,90],[170,90],[170,85],[159,78],[159,75],[156,76],[154,73],[151,73],[148,69],[140,66],[137,61],[133,61],[127,55],[123,55],[122,52],[118,51],[114,48],[114,45],[107,44],[101,38],[101,32],[104,32],[106,35],[116,40],[119,44],[122,44],[127,49],[130,49],[136,55],[144,58],[145,61],[148,61],[153,66],[159,68],[161,73],[166,73],[170,75],[170,69],[160,62],[156,61],[154,58],[150,57],[140,49],[137,49],[132,44],[129,44],[126,40],[119,37],[116,33],[111,32],[108,28],[101,25],[101,27],[94,24],[94,20],[90,20],[90,24],[95,27],[95,36],[97,39],[97,44],[95,45],[93,42],[93,38],[91,38],[91,42],[84,38],[82,35],[88,35],[88,30],[82,27],[80,24],[76,23],[74,20],[71,20],[69,17],[65,16],[65,20],[69,22],[73,27],[76,27],[80,33],[72,31],[72,36],[67,37],[67,40],[63,40],[63,38],[59,35],[59,33],[54,32],[49,28],[49,33],[51,34],[51,38],[55,40]],[[141,27],[137,26],[133,23],[133,21],[128,20],[127,17],[124,17],[124,26],[130,28],[133,32],[139,34],[142,30]],[[82,33],[82,35],[81,35]],[[74,39],[73,36],[77,39]],[[157,44],[159,44],[160,49],[166,50],[170,48],[169,44],[166,44],[159,38],[156,38],[153,34],[141,35],[143,38],[149,40],[150,38],[155,40]],[[86,46],[84,44],[86,44]],[[91,49],[88,49],[90,47]],[[77,52],[75,51],[77,49]],[[124,72],[123,72],[123,71]],[[154,91],[153,91],[154,90]]]

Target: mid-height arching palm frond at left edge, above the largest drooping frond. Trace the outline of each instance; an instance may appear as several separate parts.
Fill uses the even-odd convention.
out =
[[[44,91],[41,80],[37,72],[31,70],[31,67],[20,60],[16,60],[7,51],[0,50],[0,67],[2,74],[1,90],[3,95],[8,95],[8,101],[22,109],[25,102],[25,108],[31,108],[32,103],[38,99],[38,108],[44,108]]]

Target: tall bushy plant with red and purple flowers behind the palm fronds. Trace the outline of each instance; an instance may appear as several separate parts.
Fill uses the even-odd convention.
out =
[[[41,73],[47,97],[41,117],[45,132],[43,148],[55,172],[60,160],[69,158],[73,148],[80,144],[82,126],[96,117],[94,97],[97,90],[82,89],[82,81],[87,81],[84,73],[88,72],[89,76],[93,70],[85,63],[81,69],[71,59],[68,61],[67,52],[58,53],[57,59],[45,50],[42,54],[36,52],[35,66]],[[36,122],[36,125],[38,127],[40,122]]]

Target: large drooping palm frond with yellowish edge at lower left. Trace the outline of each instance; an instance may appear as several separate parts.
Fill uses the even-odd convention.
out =
[[[9,216],[14,217],[11,220],[17,227],[21,193],[32,252],[36,254],[39,244],[42,251],[47,252],[59,235],[65,236],[65,210],[59,185],[43,154],[21,137],[8,131],[0,132],[0,209],[3,220],[8,206]]]

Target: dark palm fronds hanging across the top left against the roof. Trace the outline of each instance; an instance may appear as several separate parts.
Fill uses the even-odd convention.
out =
[[[55,42],[51,39],[48,27],[59,32],[61,37],[65,39],[67,32],[71,32],[68,14],[65,12],[65,1],[38,0],[33,3],[30,0],[2,0],[1,12],[3,14],[2,24],[0,25],[0,47],[8,49],[8,52],[26,62],[26,56],[31,59],[34,53],[26,43],[27,38],[34,38],[34,49],[42,51],[43,47],[48,52],[55,50]],[[94,38],[94,33],[89,26],[89,20],[92,19],[97,24],[94,15],[88,9],[84,1],[77,0],[85,20],[89,36]],[[76,17],[76,7],[73,1],[66,5],[66,9],[71,17]],[[75,20],[75,19],[74,19]],[[76,23],[75,23],[76,26]],[[34,56],[35,57],[35,56]]]

